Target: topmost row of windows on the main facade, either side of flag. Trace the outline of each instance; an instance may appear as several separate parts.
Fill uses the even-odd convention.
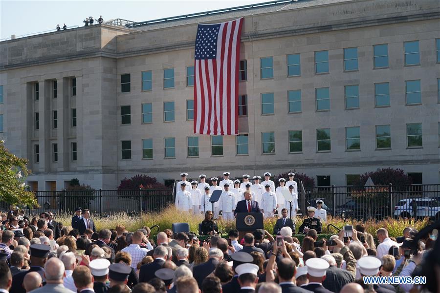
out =
[[[404,42],[404,62],[405,66],[420,64],[419,42]],[[440,39],[436,39],[437,62],[440,63]],[[344,48],[344,71],[356,71],[358,66],[357,47]],[[329,50],[314,52],[315,74],[329,73]],[[287,77],[301,76],[300,54],[289,54],[286,56]],[[374,68],[388,68],[388,44],[373,45],[373,65]],[[261,79],[273,78],[273,56],[260,58],[260,77]],[[174,88],[175,86],[174,68],[163,69],[163,88]],[[239,80],[247,80],[247,61],[240,61]],[[141,72],[142,90],[152,90],[153,74],[152,71]],[[131,74],[121,74],[121,92],[131,91]],[[186,86],[194,85],[194,66],[186,67]]]

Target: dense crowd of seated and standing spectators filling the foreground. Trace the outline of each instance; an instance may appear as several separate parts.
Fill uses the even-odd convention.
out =
[[[351,236],[341,230],[328,240],[318,240],[318,231],[308,229],[300,242],[285,226],[275,236],[255,230],[242,239],[237,230],[230,230],[227,239],[214,234],[203,240],[192,232],[164,230],[153,241],[148,227],[127,231],[121,223],[98,231],[87,209],[77,209],[71,226],[62,226],[50,211],[30,218],[15,208],[2,215],[0,292],[440,290],[439,222],[420,232],[407,227],[396,239],[384,228],[371,235],[359,223]],[[363,279],[415,275],[426,276],[426,284],[366,284]]]

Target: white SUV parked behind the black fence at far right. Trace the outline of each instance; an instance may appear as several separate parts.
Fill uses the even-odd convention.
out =
[[[402,218],[440,218],[440,202],[434,198],[407,198],[394,207],[394,216]]]

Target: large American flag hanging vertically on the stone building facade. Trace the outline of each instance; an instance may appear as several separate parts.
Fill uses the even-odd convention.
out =
[[[241,18],[198,25],[194,66],[194,133],[238,134],[242,24]]]

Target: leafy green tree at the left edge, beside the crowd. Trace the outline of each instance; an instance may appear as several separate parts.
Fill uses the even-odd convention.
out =
[[[32,192],[26,191],[24,181],[29,170],[27,160],[19,158],[0,141],[0,200],[11,205],[38,206]],[[21,176],[21,174],[23,176]]]

